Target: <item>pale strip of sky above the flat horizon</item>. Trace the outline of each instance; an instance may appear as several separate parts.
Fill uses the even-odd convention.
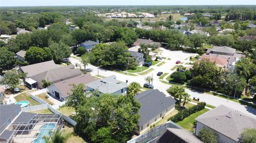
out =
[[[256,0],[0,0],[0,7],[63,5],[256,5]]]

